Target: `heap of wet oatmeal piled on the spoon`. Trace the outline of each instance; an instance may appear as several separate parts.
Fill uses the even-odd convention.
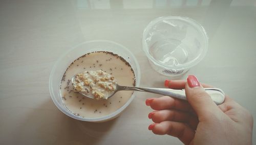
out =
[[[83,71],[75,76],[72,83],[75,92],[82,92],[96,100],[108,99],[117,84],[115,78],[103,70]]]

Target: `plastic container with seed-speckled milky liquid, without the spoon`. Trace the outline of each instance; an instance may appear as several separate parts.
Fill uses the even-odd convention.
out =
[[[54,104],[66,115],[87,122],[105,122],[121,114],[135,98],[119,91],[112,98],[95,100],[74,91],[71,79],[83,71],[102,70],[120,85],[139,86],[140,68],[126,47],[108,40],[83,42],[63,54],[53,66],[49,89]]]

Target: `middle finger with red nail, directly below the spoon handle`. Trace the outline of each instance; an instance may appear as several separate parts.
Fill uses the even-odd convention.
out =
[[[193,109],[187,101],[174,99],[169,96],[161,96],[160,98],[152,98],[146,100],[146,105],[151,106],[154,110],[164,110],[164,109],[176,109],[182,111],[190,111]]]

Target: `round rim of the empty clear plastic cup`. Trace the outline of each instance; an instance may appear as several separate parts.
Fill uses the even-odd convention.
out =
[[[150,30],[151,27],[153,27],[154,25],[156,25],[156,23],[158,23],[159,21],[164,20],[164,19],[181,20],[183,22],[189,23],[196,30],[198,30],[204,36],[205,48],[204,48],[203,52],[200,55],[198,55],[196,58],[194,58],[192,61],[185,63],[185,64],[177,65],[177,66],[169,66],[169,65],[163,64],[163,63],[159,62],[158,60],[156,60],[152,55],[150,55],[150,53],[148,52],[148,49],[147,49],[148,46],[145,42],[146,35],[148,34],[148,31]],[[196,20],[191,19],[189,17],[181,17],[181,16],[157,17],[157,18],[153,19],[150,23],[148,23],[148,25],[145,27],[145,29],[142,33],[142,49],[143,49],[144,53],[146,54],[147,58],[150,59],[157,66],[164,67],[167,69],[186,69],[186,68],[190,68],[190,67],[197,65],[205,57],[205,55],[208,51],[208,35],[207,35],[205,29],[203,28],[203,26],[199,22],[197,22]]]

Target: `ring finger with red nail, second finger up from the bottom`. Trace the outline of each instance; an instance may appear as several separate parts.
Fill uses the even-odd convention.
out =
[[[153,111],[148,114],[148,118],[152,119],[154,123],[161,123],[164,121],[181,122],[188,124],[193,130],[196,130],[198,125],[197,116],[178,110],[160,110]]]

